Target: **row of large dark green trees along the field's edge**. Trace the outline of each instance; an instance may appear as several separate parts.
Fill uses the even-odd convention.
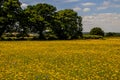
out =
[[[55,36],[57,39],[82,37],[82,17],[72,9],[57,11],[46,3],[21,7],[19,0],[0,0],[0,38],[5,33],[19,33],[19,37],[29,33],[39,34],[38,39]]]

